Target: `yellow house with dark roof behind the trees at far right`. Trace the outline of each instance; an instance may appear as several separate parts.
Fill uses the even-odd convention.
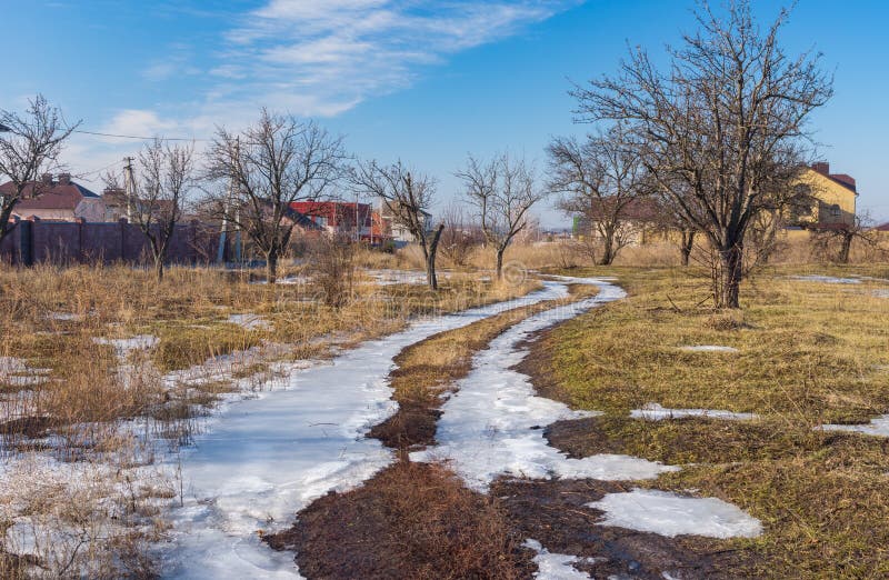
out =
[[[858,192],[851,176],[831,173],[830,164],[820,161],[806,168],[796,187],[801,200],[789,211],[789,226],[837,228],[855,224]]]

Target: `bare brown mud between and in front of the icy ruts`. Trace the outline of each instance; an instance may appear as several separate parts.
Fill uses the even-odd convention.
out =
[[[485,331],[476,324],[462,329],[472,338],[471,349],[436,383],[436,394],[452,389],[470,372],[476,352],[530,314]],[[536,348],[536,339],[553,328],[522,343],[531,352],[517,368],[545,396],[558,399],[558,386],[541,372],[546,353]],[[400,376],[404,372],[410,369],[396,370],[390,378],[409,379]],[[585,504],[629,490],[633,487],[629,481],[501,477],[487,494],[469,490],[441,466],[411,463],[408,456],[410,449],[434,443],[442,399],[396,399],[400,411],[376,426],[369,437],[399,449],[399,462],[359,489],[331,492],[312,502],[290,529],[266,538],[276,549],[296,550],[308,578],[532,578],[536,552],[522,547],[528,538],[550,552],[586,557],[573,566],[592,578],[732,578],[745,557],[720,550],[720,544],[705,538],[666,538],[598,526],[601,513]],[[557,431],[583,429],[588,422],[562,421]]]

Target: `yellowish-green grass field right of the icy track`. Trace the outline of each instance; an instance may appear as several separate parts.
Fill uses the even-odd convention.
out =
[[[887,277],[889,269],[818,273]],[[601,270],[596,270],[602,274]],[[889,412],[889,299],[853,286],[802,282],[771,269],[742,289],[743,310],[702,306],[706,281],[682,270],[608,271],[630,297],[579,317],[536,347],[557,397],[605,411],[559,442],[575,454],[625,452],[681,464],[645,483],[719,497],[762,520],[752,540],[717,541],[747,556],[739,576],[889,574],[889,440],[815,431]],[[690,353],[722,344],[738,353]],[[756,412],[759,420],[643,421],[629,410]],[[557,441],[558,442],[558,441]]]

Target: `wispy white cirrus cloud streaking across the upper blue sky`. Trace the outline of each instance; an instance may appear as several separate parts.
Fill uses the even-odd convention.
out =
[[[580,0],[270,0],[226,34],[214,96],[338,114],[409,87],[423,67],[495,42]],[[238,82],[231,82],[237,80]]]

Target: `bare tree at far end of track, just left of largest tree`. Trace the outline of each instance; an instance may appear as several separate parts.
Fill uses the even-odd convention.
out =
[[[630,243],[637,232],[630,231],[627,213],[651,189],[639,148],[629,139],[617,123],[583,143],[557,138],[547,148],[549,187],[565,194],[559,201],[562,211],[583,216],[595,228],[601,242],[599,266],[610,266]]]

